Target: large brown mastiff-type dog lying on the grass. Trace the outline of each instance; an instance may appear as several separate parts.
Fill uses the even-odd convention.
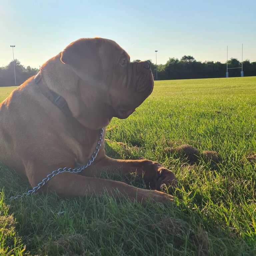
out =
[[[130,62],[114,41],[79,39],[48,60],[40,74],[17,87],[0,105],[0,161],[26,175],[36,186],[60,167],[87,163],[99,139],[99,129],[112,117],[127,118],[152,92],[147,61]],[[104,138],[91,166],[81,172],[61,173],[42,191],[61,197],[85,194],[122,195],[132,200],[163,202],[172,196],[97,178],[102,170],[137,172],[159,190],[176,183],[173,172],[149,160],[107,157]],[[118,191],[118,192],[117,192]]]

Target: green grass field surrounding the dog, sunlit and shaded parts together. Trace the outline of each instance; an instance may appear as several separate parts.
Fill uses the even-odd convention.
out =
[[[8,91],[0,88],[0,100]],[[10,202],[30,187],[0,165],[0,255],[256,255],[255,126],[256,77],[156,81],[135,113],[112,120],[106,150],[173,170],[174,203]],[[106,176],[143,187],[137,177]]]

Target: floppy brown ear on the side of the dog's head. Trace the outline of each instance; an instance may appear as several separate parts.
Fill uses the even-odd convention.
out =
[[[100,38],[81,38],[61,52],[60,60],[71,66],[84,81],[101,81],[103,67],[99,56],[100,45]]]

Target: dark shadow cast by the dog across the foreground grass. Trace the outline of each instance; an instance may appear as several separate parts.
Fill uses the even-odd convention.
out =
[[[107,146],[112,156],[118,152]],[[27,191],[26,179],[1,166],[2,196]],[[145,188],[136,175],[126,177],[103,172],[101,178]],[[221,218],[203,211],[195,201],[206,200],[198,191],[185,201],[184,190],[177,189],[173,204],[149,204],[142,207],[129,200],[102,197],[61,199],[55,194],[20,198],[9,204],[6,220],[13,216],[13,229],[22,250],[28,255],[230,255],[250,252],[241,239],[228,237]],[[184,200],[184,202],[183,202]],[[8,208],[8,207],[7,207]],[[6,236],[7,237],[7,236]],[[223,240],[221,240],[223,239]],[[225,241],[225,242],[224,242]],[[16,242],[7,239],[5,247],[13,250]],[[18,247],[17,247],[18,248]],[[31,253],[30,253],[30,252]],[[248,254],[249,255],[249,254]]]

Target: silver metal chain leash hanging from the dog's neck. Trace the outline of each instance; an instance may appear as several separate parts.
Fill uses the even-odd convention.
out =
[[[15,197],[11,196],[10,199],[17,199],[17,198],[21,198],[21,197],[24,197],[24,196],[32,195],[33,193],[37,192],[42,186],[44,186],[50,179],[52,179],[54,176],[58,175],[59,173],[63,173],[63,172],[78,173],[78,172],[81,172],[82,170],[84,170],[85,168],[87,168],[88,166],[90,166],[93,163],[96,156],[98,155],[98,153],[99,153],[100,146],[101,146],[101,143],[102,143],[102,140],[103,140],[103,133],[104,133],[104,128],[101,128],[97,146],[96,146],[91,158],[88,160],[86,165],[83,165],[79,168],[64,167],[64,168],[59,168],[58,170],[52,171],[52,173],[48,174],[41,182],[39,182],[37,184],[37,186],[33,187],[27,193],[23,193],[22,195],[17,195]]]

